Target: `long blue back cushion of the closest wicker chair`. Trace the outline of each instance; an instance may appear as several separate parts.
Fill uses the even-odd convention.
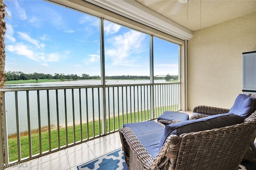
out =
[[[205,131],[225,126],[231,126],[244,122],[244,117],[235,115],[233,113],[224,113],[219,115],[212,115],[201,119],[194,119],[188,121],[182,121],[166,125],[164,128],[164,134],[159,143],[159,150],[164,145],[166,138],[170,135],[180,136],[183,133]]]

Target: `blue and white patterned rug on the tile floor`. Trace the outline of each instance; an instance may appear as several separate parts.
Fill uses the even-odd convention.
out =
[[[80,166],[78,170],[128,170],[122,149],[114,150],[108,154],[95,158]]]

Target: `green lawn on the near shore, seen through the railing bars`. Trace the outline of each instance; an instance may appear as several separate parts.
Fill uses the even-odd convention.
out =
[[[132,123],[138,121],[149,120],[150,111],[146,110],[145,112],[135,112],[128,113],[119,116],[119,127],[118,127],[118,116],[110,117],[110,119],[106,120],[106,131],[110,133],[112,131],[118,130],[125,123]],[[99,128],[100,127],[100,128]],[[88,129],[88,134],[87,134]],[[67,146],[69,144],[74,143],[74,134],[75,134],[75,142],[81,141],[81,129],[80,124],[75,126],[75,132],[73,131],[73,126],[67,127],[68,131],[68,143],[66,143],[66,127],[60,128],[59,136],[60,136],[60,146],[58,146],[58,129],[54,128],[50,131],[50,145],[49,145],[49,132],[48,127],[44,127],[41,130],[41,142],[42,142],[42,152],[48,151],[51,149],[55,149],[58,147]],[[32,139],[32,155],[40,153],[40,140],[39,140],[39,132],[38,129],[31,132]],[[99,136],[102,134],[102,120],[94,121],[82,124],[82,140],[87,140],[95,136]],[[28,140],[28,132],[21,133],[20,135],[20,145],[21,145],[21,158],[26,158],[29,156],[29,140]],[[8,136],[8,148],[9,148],[9,159],[10,162],[18,160],[18,147],[17,147],[17,135],[9,135]]]

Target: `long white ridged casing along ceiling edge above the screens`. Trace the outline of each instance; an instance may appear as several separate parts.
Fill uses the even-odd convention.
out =
[[[193,31],[158,14],[135,0],[85,0],[131,20],[148,25],[181,39],[193,37]]]

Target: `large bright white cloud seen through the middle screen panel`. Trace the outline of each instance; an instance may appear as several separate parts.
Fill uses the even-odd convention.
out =
[[[138,54],[144,50],[143,41],[145,37],[145,34],[133,30],[123,35],[112,37],[112,39],[109,40],[113,42],[112,47],[106,50],[106,55],[112,59],[112,64],[114,65],[132,63],[132,55]]]

